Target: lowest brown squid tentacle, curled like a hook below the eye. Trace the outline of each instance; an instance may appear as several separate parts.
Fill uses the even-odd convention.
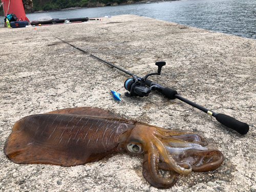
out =
[[[169,188],[177,181],[175,172],[171,172],[168,179],[162,178],[159,174],[159,152],[153,142],[148,143],[148,153],[143,157],[143,176],[157,188]]]

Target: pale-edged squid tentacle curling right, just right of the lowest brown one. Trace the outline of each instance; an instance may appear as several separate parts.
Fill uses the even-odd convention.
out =
[[[167,163],[168,167],[172,167],[175,170],[175,172],[182,175],[188,175],[191,173],[192,168],[190,167],[190,165],[188,163],[177,163],[173,159],[173,157],[170,156],[169,152],[166,150],[163,143],[157,137],[155,137],[153,143],[155,144],[155,146],[157,146],[158,151],[163,156],[164,161]]]

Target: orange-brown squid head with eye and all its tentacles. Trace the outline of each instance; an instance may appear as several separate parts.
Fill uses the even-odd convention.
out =
[[[220,151],[205,148],[207,142],[199,135],[140,122],[119,141],[117,151],[143,155],[143,176],[157,188],[173,186],[177,174],[215,170],[224,160]],[[159,169],[168,170],[169,177],[161,176]]]

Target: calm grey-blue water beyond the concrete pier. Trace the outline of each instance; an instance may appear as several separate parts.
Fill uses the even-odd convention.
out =
[[[255,0],[182,0],[31,13],[27,14],[27,17],[30,20],[36,20],[40,18],[102,17],[122,14],[146,16],[256,39]],[[3,17],[0,17],[1,22],[2,20]]]

